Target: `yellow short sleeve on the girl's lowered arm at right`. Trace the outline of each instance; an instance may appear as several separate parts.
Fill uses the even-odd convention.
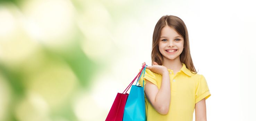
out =
[[[195,103],[199,102],[200,100],[202,100],[204,98],[206,100],[210,96],[211,96],[211,93],[209,91],[205,77],[203,75],[201,75],[196,84]]]

